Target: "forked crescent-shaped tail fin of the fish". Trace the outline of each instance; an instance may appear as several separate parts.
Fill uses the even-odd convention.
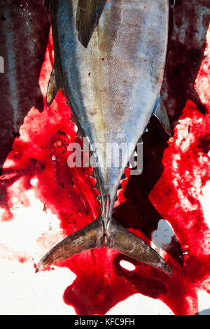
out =
[[[113,218],[104,230],[102,217],[97,218],[73,235],[69,235],[48,251],[38,263],[36,272],[87,249],[102,247],[116,249],[135,260],[139,260],[139,262],[144,262],[172,275],[165,260],[151,246],[123,228]]]

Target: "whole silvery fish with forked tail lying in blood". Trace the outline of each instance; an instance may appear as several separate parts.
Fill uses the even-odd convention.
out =
[[[169,0],[47,0],[55,62],[47,106],[62,90],[78,133],[90,142],[102,213],[46,253],[36,272],[88,249],[112,248],[172,276],[165,260],[113,216],[120,180],[151,116],[170,134],[160,97],[169,40]],[[107,166],[107,144],[124,143]],[[133,149],[128,146],[132,144]]]

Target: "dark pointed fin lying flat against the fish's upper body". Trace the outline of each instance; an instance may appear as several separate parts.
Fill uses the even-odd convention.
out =
[[[76,13],[78,39],[87,48],[92,33],[102,15],[106,0],[79,0]]]

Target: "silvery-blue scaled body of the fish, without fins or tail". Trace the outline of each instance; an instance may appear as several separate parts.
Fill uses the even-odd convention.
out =
[[[94,154],[102,192],[111,197],[111,214],[132,150],[120,167],[107,168],[106,145],[137,144],[148,124],[165,69],[168,1],[106,1],[87,49],[76,31],[78,1],[52,0],[51,6],[61,22],[52,26],[55,64],[85,136],[102,146],[95,145]]]

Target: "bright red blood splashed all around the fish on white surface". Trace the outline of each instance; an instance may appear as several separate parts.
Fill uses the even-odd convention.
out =
[[[51,38],[47,54],[41,71],[41,85],[47,83],[46,72],[49,75],[52,68]],[[204,71],[202,76],[200,70],[200,78],[207,77],[205,68]],[[183,93],[188,79],[189,75],[187,80],[182,76]],[[176,77],[173,83],[176,87]],[[43,100],[45,104],[45,93]],[[123,181],[114,217],[148,243],[159,219],[167,219],[182,251],[188,252],[183,256],[183,266],[181,249],[176,244],[172,244],[165,257],[172,269],[172,279],[111,249],[94,249],[75,255],[60,262],[59,266],[68,267],[76,274],[63,298],[66,304],[76,309],[77,314],[105,314],[134,293],[159,298],[174,314],[196,314],[197,289],[202,287],[209,292],[206,281],[210,265],[209,228],[201,204],[202,188],[209,180],[210,172],[207,155],[209,103],[206,102],[207,111],[202,114],[192,101],[187,101],[186,94],[176,95],[176,100],[178,111],[171,113],[171,119],[179,118],[179,123],[174,127],[173,137],[166,149],[162,134],[154,137],[148,133],[144,137],[144,173],[130,177],[128,183]],[[58,92],[49,110],[44,106],[42,113],[34,107],[29,111],[20,129],[20,137],[16,137],[13,151],[8,154],[3,167],[0,201],[5,209],[4,220],[12,219],[10,207],[13,206],[14,195],[19,202],[29,206],[24,192],[31,188],[43,202],[44,209],[47,207],[57,215],[66,235],[99,216],[98,193],[94,189],[90,169],[69,168],[67,165],[69,143],[81,143],[70,119],[71,113],[62,92]],[[34,177],[38,183],[33,187],[30,181]],[[10,187],[18,180],[17,195]],[[23,262],[23,259],[19,261]],[[124,269],[120,260],[132,262],[136,269]]]

